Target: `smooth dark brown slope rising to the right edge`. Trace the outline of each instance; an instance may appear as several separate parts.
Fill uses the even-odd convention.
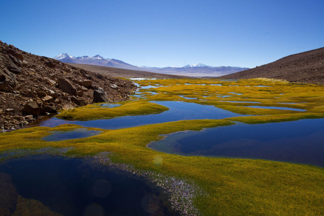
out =
[[[259,77],[324,85],[324,47],[289,55],[272,63],[217,78],[250,79]]]

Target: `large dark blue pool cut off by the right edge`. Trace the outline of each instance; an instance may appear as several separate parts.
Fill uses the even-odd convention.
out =
[[[178,132],[148,147],[166,153],[261,158],[324,167],[324,119]]]

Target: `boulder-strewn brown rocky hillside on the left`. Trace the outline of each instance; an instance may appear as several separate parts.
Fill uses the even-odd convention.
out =
[[[0,41],[0,132],[58,110],[127,100],[135,89],[131,81],[78,69]]]

